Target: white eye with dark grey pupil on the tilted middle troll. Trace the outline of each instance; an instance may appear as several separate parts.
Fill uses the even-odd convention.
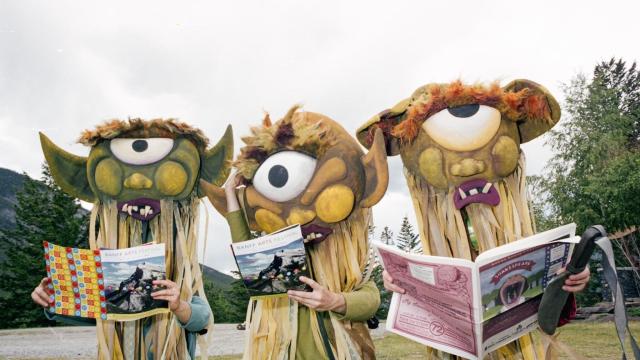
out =
[[[316,159],[297,151],[275,153],[260,165],[253,176],[253,186],[271,201],[289,201],[307,187],[316,163]]]

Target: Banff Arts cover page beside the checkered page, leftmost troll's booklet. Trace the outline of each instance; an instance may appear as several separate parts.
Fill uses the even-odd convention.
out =
[[[100,250],[107,320],[136,320],[169,312],[166,301],[151,297],[164,289],[153,284],[166,279],[164,251],[164,244]]]

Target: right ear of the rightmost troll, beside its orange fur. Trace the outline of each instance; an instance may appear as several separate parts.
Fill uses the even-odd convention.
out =
[[[560,105],[547,89],[531,80],[514,80],[504,87],[505,91],[513,92],[522,89],[529,89],[525,106],[534,104],[536,107],[542,107],[539,116],[523,117],[518,120],[520,143],[526,143],[549,131],[560,120]]]

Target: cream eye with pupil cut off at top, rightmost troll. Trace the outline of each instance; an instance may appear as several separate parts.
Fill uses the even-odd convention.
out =
[[[435,142],[453,151],[471,151],[486,145],[500,128],[498,109],[470,104],[441,110],[422,128]]]

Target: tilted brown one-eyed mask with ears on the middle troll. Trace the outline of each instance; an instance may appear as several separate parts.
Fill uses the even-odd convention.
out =
[[[243,196],[250,227],[271,233],[301,224],[307,241],[319,243],[333,225],[358,208],[370,208],[388,184],[382,133],[372,135],[364,154],[358,143],[335,121],[293,107],[272,124],[242,140],[234,166],[247,184]],[[205,187],[210,200],[226,211],[221,189]]]

